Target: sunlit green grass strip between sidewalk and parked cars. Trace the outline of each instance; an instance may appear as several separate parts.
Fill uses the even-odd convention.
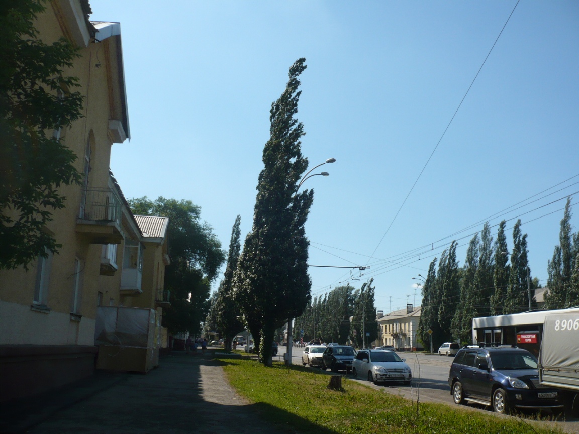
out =
[[[544,429],[518,418],[500,418],[479,411],[436,403],[416,403],[401,396],[342,378],[343,391],[327,388],[329,375],[299,366],[255,359],[224,359],[223,369],[237,392],[263,417],[298,432],[331,433],[508,433],[543,434]],[[406,388],[405,388],[406,390]]]

